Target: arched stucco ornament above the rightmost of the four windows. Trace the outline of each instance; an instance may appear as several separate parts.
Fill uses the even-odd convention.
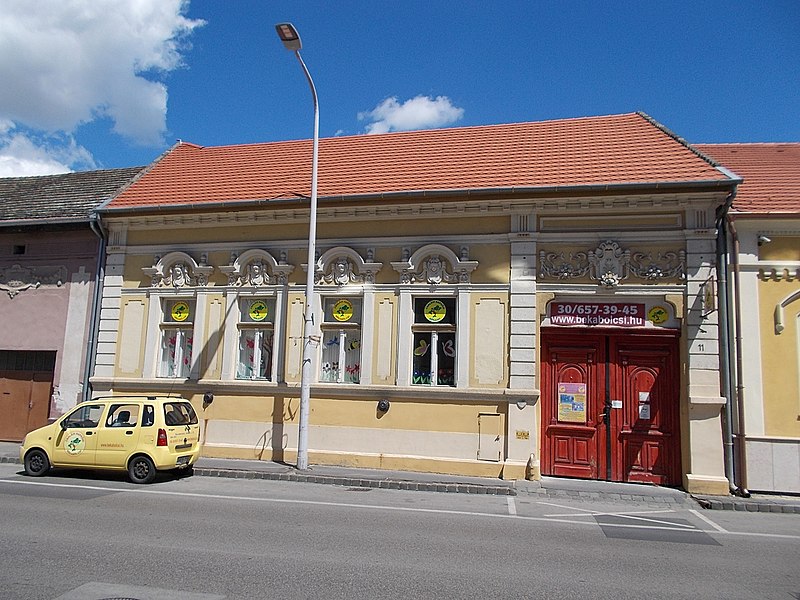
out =
[[[400,273],[400,283],[469,283],[478,261],[469,260],[466,246],[457,256],[447,246],[429,244],[411,255],[408,248],[403,248],[403,260],[393,262],[392,268]]]

